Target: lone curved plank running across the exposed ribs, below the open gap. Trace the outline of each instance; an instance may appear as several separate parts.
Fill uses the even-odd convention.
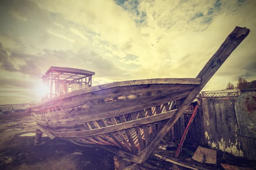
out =
[[[117,125],[111,125],[108,127],[101,127],[98,129],[92,129],[87,131],[76,131],[76,132],[54,132],[54,134],[58,137],[86,137],[86,136],[94,136],[101,135],[103,133],[111,133],[117,130],[123,130],[131,127],[138,127],[145,124],[150,124],[152,122],[160,121],[163,119],[169,119],[172,117],[173,113],[176,111],[168,111],[165,113],[157,114],[154,116],[148,116],[137,120],[132,120],[125,123],[119,123]],[[135,114],[135,113],[134,113]],[[132,114],[133,119],[135,118],[134,114]],[[50,128],[50,126],[49,126]]]

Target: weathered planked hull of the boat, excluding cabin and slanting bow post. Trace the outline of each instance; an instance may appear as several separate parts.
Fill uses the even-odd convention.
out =
[[[80,95],[71,92],[67,98],[39,103],[33,106],[32,114],[41,128],[54,136],[70,138],[73,143],[113,145],[137,152],[144,146],[140,146],[136,133],[140,133],[141,145],[148,144],[163,125],[162,120],[171,118],[176,111],[170,111],[173,101],[186,98],[201,83],[201,79],[180,80],[172,79],[173,84],[140,85],[138,82],[128,86],[113,82],[107,85],[110,88],[102,89],[101,85],[98,91],[84,89]],[[134,136],[133,141],[128,139],[127,133]]]

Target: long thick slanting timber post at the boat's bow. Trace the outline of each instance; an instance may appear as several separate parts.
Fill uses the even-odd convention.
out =
[[[137,157],[137,163],[145,161],[148,156],[153,152],[157,144],[163,139],[163,136],[170,130],[170,128],[177,122],[180,116],[184,113],[186,108],[195,99],[195,97],[200,93],[200,91],[207,84],[209,79],[218,71],[218,68],[225,62],[225,60],[230,56],[230,54],[236,49],[236,47],[247,37],[250,29],[241,28],[236,26],[236,28],[228,35],[226,40],[222,43],[218,51],[212,56],[207,62],[204,68],[200,71],[196,78],[202,78],[201,85],[197,85],[191,93],[183,99],[177,111],[174,113],[171,119],[164,125],[164,127],[157,134],[156,138],[148,145],[148,147],[143,151],[143,154]]]

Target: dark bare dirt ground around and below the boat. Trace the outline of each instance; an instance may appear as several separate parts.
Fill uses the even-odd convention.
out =
[[[34,146],[36,123],[30,113],[11,113],[0,115],[0,170],[113,170],[114,154],[99,147],[81,147],[62,139],[50,139],[42,136],[46,142],[42,146]],[[154,153],[172,157],[175,151],[163,150],[160,146],[171,141],[164,139]],[[184,147],[180,155],[183,162],[194,164],[201,169],[222,170],[220,163],[240,167],[256,167],[253,161],[218,153],[217,166],[200,164],[191,159],[196,146]],[[74,154],[80,153],[80,154]],[[154,156],[139,167],[141,170],[187,170]]]

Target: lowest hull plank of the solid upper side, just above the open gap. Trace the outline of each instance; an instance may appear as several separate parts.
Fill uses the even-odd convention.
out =
[[[67,116],[60,116],[60,120],[53,120],[49,122],[49,125],[64,125],[64,124],[74,124],[74,123],[81,123],[81,122],[88,122],[88,121],[92,121],[92,120],[99,120],[99,119],[106,119],[109,118],[110,116],[120,116],[121,114],[127,114],[127,113],[131,113],[134,111],[138,111],[138,110],[143,110],[146,108],[151,108],[154,105],[158,105],[161,103],[165,103],[168,102],[170,100],[175,100],[177,98],[183,98],[187,96],[187,94],[184,95],[180,95],[180,96],[175,96],[174,98],[167,98],[167,99],[162,99],[159,101],[155,101],[155,102],[150,102],[147,104],[143,104],[143,105],[135,105],[133,107],[130,108],[121,108],[116,107],[116,108],[112,108],[113,111],[109,111],[108,108],[100,108],[103,111],[108,111],[108,112],[103,112],[103,111],[99,111],[98,109],[91,109],[91,110],[87,110],[87,111],[79,111],[79,112],[75,112],[75,113],[70,113]],[[124,105],[124,107],[129,107],[129,105],[127,104],[126,106]],[[115,109],[115,110],[114,110]],[[102,113],[103,112],[103,113]],[[74,117],[74,115],[77,118],[71,118],[71,119],[65,119],[68,117]],[[84,116],[84,115],[88,115],[88,116]],[[51,117],[49,119],[54,119],[54,117]]]

